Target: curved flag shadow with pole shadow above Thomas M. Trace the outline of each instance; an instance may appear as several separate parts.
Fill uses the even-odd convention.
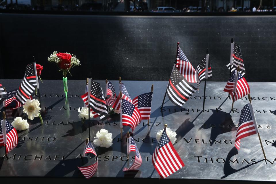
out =
[[[237,149],[236,149],[235,147],[233,147],[233,148],[230,150],[230,152],[228,153],[228,155],[227,155],[227,157],[226,157],[225,160],[229,160],[229,159],[231,159],[231,157],[233,157],[233,156],[235,156],[235,155],[237,155],[237,154],[238,154]],[[246,169],[246,168],[248,168],[248,167],[250,167],[250,166],[252,166],[252,165],[254,165],[254,164],[257,164],[257,163],[259,163],[259,162],[261,162],[261,161],[264,161],[264,159],[259,160],[259,161],[257,161],[256,163],[253,163],[253,164],[244,166],[244,167],[242,167],[242,168],[240,168],[240,169],[234,169],[234,168],[232,168],[231,165],[230,165],[230,161],[229,161],[229,162],[225,161],[224,166],[223,166],[223,173],[224,173],[225,175],[224,175],[223,177],[221,177],[221,179],[224,179],[224,178],[228,177],[228,176],[231,175],[231,174],[237,173],[237,172],[239,172],[239,171],[241,171],[241,170],[243,170],[243,169]]]

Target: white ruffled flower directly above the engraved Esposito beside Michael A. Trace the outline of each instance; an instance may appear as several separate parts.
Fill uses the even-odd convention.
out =
[[[97,138],[97,139],[94,139],[93,141],[96,146],[108,148],[113,144],[112,133],[108,133],[108,131],[105,129],[98,131],[96,133],[96,137],[94,138]]]

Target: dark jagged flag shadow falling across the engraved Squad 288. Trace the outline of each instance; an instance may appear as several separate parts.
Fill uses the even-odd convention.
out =
[[[237,130],[232,116],[229,113],[211,109],[213,114],[208,118],[208,120],[199,128],[200,129],[211,129],[210,140],[211,146],[214,144],[214,140],[220,134],[231,132]]]

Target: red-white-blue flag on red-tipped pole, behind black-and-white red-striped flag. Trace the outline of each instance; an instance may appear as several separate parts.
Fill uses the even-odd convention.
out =
[[[193,68],[183,51],[177,45],[176,68],[189,83],[196,83],[196,70]]]

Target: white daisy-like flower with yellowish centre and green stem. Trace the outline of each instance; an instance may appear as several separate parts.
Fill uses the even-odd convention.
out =
[[[40,103],[37,99],[28,99],[23,106],[23,112],[28,115],[29,120],[33,120],[34,117],[39,116],[39,111],[41,108],[39,107]]]

